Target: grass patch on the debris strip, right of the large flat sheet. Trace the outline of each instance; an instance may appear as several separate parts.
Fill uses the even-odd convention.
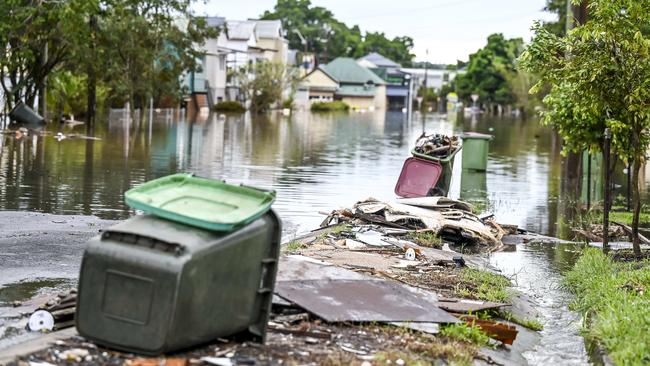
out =
[[[456,295],[476,300],[510,302],[510,280],[502,275],[479,269],[465,268],[459,276]]]

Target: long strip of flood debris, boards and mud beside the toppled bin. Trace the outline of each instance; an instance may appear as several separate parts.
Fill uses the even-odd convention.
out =
[[[459,358],[490,363],[479,346],[458,341],[445,329],[470,325],[489,336],[493,347],[509,352],[502,345],[511,345],[518,330],[476,316],[499,314],[509,298],[482,293],[484,284],[466,274],[482,272],[478,269],[485,269],[485,261],[450,248],[460,244],[483,252],[499,250],[501,239],[516,231],[445,197],[367,199],[333,211],[320,229],[284,246],[265,345],[218,339],[172,358],[138,358],[75,337],[24,360],[132,366],[367,365],[386,359],[400,364],[399,355],[408,354],[423,357],[425,363]]]

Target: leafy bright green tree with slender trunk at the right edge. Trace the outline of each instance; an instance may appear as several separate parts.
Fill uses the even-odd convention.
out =
[[[613,154],[634,163],[633,246],[640,255],[639,171],[650,147],[650,0],[590,0],[587,9],[589,21],[564,38],[536,23],[520,60],[540,75],[531,92],[551,85],[542,117],[566,151],[600,150],[610,128]]]

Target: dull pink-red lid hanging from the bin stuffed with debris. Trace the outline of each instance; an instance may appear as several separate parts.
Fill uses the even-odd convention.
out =
[[[395,185],[395,194],[405,198],[426,197],[442,174],[442,166],[435,161],[408,158]]]

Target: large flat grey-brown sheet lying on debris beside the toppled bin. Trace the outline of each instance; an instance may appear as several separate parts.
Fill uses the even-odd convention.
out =
[[[458,322],[435,294],[393,281],[284,281],[275,291],[328,322]]]

